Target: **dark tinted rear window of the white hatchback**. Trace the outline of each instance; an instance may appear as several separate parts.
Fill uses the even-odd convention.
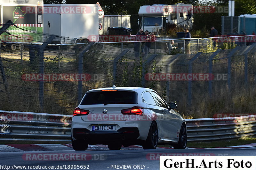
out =
[[[128,91],[105,91],[86,93],[81,105],[137,104],[138,94]]]

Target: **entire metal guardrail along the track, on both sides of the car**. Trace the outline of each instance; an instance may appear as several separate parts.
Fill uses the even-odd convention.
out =
[[[209,142],[256,135],[256,115],[186,119],[188,142]],[[0,111],[0,143],[71,142],[72,115]]]

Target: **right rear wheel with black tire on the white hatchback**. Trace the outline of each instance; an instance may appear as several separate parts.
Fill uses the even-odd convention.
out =
[[[157,125],[156,125],[156,122],[152,122],[149,128],[147,140],[145,144],[142,145],[142,147],[143,149],[156,149],[157,142],[158,142]]]

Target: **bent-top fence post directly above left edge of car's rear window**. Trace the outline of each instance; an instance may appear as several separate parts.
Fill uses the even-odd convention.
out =
[[[83,57],[84,57],[84,53],[92,47],[92,45],[94,44],[94,42],[89,42],[89,43],[85,43],[85,47],[83,47],[81,49],[81,51],[78,53],[78,74],[80,75],[80,79],[78,80],[78,96],[77,96],[77,101],[78,103],[82,100],[82,80],[81,80],[81,74],[83,74]]]

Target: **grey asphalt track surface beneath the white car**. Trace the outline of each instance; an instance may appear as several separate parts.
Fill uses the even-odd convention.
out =
[[[255,156],[256,147],[211,148],[211,149],[166,149],[143,150],[142,148],[118,151],[20,151],[0,152],[0,169],[159,169],[159,156]],[[23,167],[18,167],[23,166]],[[24,167],[26,166],[26,167]],[[41,166],[41,167],[40,167]],[[52,166],[52,167],[51,167]],[[54,167],[53,167],[54,166]]]

